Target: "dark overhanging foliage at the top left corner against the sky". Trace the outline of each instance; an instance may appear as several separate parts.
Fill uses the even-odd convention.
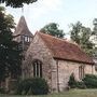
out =
[[[12,8],[22,8],[24,5],[24,3],[33,3],[38,0],[0,0],[0,3],[5,3],[5,5],[8,6],[12,6]]]

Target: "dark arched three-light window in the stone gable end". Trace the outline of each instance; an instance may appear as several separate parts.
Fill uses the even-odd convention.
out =
[[[34,78],[42,78],[42,63],[36,59],[33,63],[33,77]]]

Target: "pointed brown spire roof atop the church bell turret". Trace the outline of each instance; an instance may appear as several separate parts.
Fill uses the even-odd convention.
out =
[[[19,34],[32,37],[32,33],[29,31],[24,16],[20,17],[16,30],[13,33],[13,36],[19,36]]]

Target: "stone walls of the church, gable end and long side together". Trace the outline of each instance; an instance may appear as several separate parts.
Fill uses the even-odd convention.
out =
[[[79,81],[79,66],[81,65],[85,66],[85,73],[95,73],[94,67],[91,65],[54,59],[51,51],[38,34],[33,38],[26,53],[23,78],[33,77],[32,61],[34,59],[42,61],[42,77],[47,81],[51,92],[65,91],[72,72]]]

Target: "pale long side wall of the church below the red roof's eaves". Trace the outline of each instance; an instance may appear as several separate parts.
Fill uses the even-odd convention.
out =
[[[82,65],[84,65],[85,73],[95,74],[95,69],[94,66],[92,67],[92,65],[58,60],[59,91],[65,91],[65,88],[68,86],[68,81],[72,72],[74,73],[75,80],[80,81],[79,67]]]

